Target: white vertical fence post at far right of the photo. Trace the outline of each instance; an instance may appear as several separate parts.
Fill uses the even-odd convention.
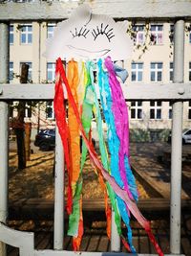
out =
[[[174,41],[174,82],[183,82],[184,70],[184,21],[175,24]],[[182,88],[181,93],[184,94]],[[181,198],[181,151],[183,103],[173,104],[172,153],[171,153],[171,212],[170,251],[180,254],[180,198]]]

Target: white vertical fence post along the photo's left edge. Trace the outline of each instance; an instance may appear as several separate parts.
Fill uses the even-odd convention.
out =
[[[9,25],[0,23],[0,83],[8,82]],[[0,102],[0,221],[8,217],[8,104]],[[0,242],[0,255],[6,256],[6,245]]]

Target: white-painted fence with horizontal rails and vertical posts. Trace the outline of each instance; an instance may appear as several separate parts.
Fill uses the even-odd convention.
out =
[[[79,1],[81,2],[81,1]],[[84,2],[84,1],[83,1]],[[171,18],[175,21],[174,82],[168,84],[128,84],[123,86],[128,100],[173,101],[171,204],[170,204],[170,251],[180,255],[180,189],[181,189],[181,129],[183,101],[191,100],[191,83],[183,83],[184,20],[191,18],[191,1],[167,0],[120,0],[85,1],[93,12],[109,14],[115,18]],[[33,234],[11,230],[8,218],[8,104],[16,100],[51,100],[53,84],[8,84],[9,22],[22,20],[65,19],[77,6],[77,2],[0,4],[0,256],[6,256],[5,244],[19,247],[21,256],[53,255],[117,255],[114,252],[80,252],[63,249],[63,157],[62,146],[56,133],[55,200],[54,200],[54,250],[34,249]],[[113,223],[112,250],[118,251],[117,232]],[[125,255],[124,253],[119,253]],[[130,254],[129,254],[130,255]]]

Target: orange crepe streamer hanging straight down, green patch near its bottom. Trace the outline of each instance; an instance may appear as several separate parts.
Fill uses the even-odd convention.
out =
[[[74,97],[75,105],[78,106],[77,88],[79,83],[77,62],[71,60],[68,62],[68,82]],[[76,122],[73,106],[68,102],[68,127],[70,130],[70,157],[71,157],[71,182],[73,191],[73,213],[69,215],[68,234],[73,236],[74,250],[78,250],[83,236],[83,217],[82,217],[82,182],[79,182],[80,176],[80,136],[78,123]],[[79,195],[78,195],[79,194]]]

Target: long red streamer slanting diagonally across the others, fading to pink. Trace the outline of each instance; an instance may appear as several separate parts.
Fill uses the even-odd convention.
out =
[[[152,231],[151,231],[151,226],[150,226],[150,222],[147,221],[142,215],[141,213],[139,212],[138,210],[138,206],[136,204],[136,202],[131,199],[128,195],[128,193],[125,192],[125,190],[123,190],[122,188],[120,188],[117,184],[117,182],[115,181],[115,178],[113,176],[111,176],[105,169],[104,167],[102,166],[102,164],[100,163],[100,161],[98,160],[98,157],[97,157],[97,154],[96,154],[96,151],[93,147],[93,145],[91,145],[91,143],[89,142],[89,140],[87,139],[87,136],[86,136],[86,133],[85,133],[85,130],[82,126],[82,123],[81,123],[81,120],[80,120],[80,116],[79,116],[79,113],[78,113],[78,109],[77,109],[77,105],[75,105],[75,102],[74,102],[74,98],[73,98],[73,94],[71,92],[71,89],[70,89],[70,86],[69,86],[69,83],[66,79],[66,76],[65,76],[65,71],[64,71],[64,68],[63,68],[63,65],[62,65],[62,61],[61,61],[61,58],[58,58],[56,60],[56,70],[57,72],[60,74],[61,76],[61,80],[59,80],[59,83],[58,83],[58,86],[56,86],[56,90],[59,91],[59,93],[62,93],[63,94],[63,88],[62,88],[62,82],[65,84],[66,86],[66,89],[67,89],[67,93],[68,93],[68,99],[69,101],[71,102],[71,105],[73,106],[74,108],[74,114],[75,114],[75,117],[76,117],[76,120],[77,120],[77,123],[78,123],[78,126],[80,128],[80,131],[81,131],[81,135],[84,139],[84,142],[86,144],[86,147],[90,153],[90,156],[94,162],[94,164],[96,165],[96,168],[97,168],[97,171],[100,173],[100,175],[103,175],[103,177],[110,183],[110,185],[112,186],[112,188],[114,189],[114,191],[116,192],[117,196],[119,198],[121,198],[126,206],[128,207],[129,211],[133,214],[133,216],[138,220],[138,222],[140,223],[140,225],[145,229],[145,231],[147,232],[149,238],[150,238],[150,241],[154,244],[159,256],[163,256],[163,252],[161,251],[160,247],[159,247],[159,244],[157,243]],[[57,95],[57,92],[55,92],[55,95]],[[55,100],[56,101],[56,100]],[[57,105],[58,106],[58,105]],[[63,104],[62,106],[60,107],[63,107]],[[57,109],[55,109],[55,111],[57,111]],[[56,121],[57,122],[57,121]],[[59,128],[59,127],[58,127]],[[60,133],[61,135],[61,133]],[[63,135],[63,133],[62,133]]]

